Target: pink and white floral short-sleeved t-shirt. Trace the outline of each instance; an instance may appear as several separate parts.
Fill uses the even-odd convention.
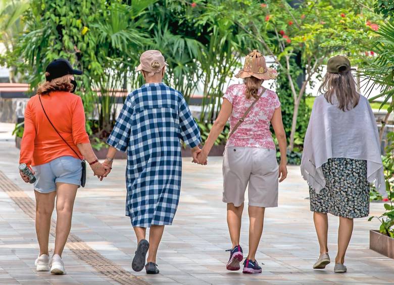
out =
[[[260,87],[258,94],[263,90],[262,88]],[[245,90],[245,84],[230,85],[223,96],[232,104],[230,132],[255,100],[253,97],[247,99]],[[274,91],[267,89],[242,124],[236,129],[235,133],[227,140],[226,147],[241,146],[275,149],[270,131],[270,122],[274,110],[279,106],[278,95]]]

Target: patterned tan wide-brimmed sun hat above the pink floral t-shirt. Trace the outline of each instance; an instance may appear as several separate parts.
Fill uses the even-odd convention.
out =
[[[246,56],[243,69],[235,75],[236,78],[247,78],[251,76],[264,80],[275,79],[278,76],[276,70],[267,68],[263,54],[258,52],[257,49],[254,49]]]

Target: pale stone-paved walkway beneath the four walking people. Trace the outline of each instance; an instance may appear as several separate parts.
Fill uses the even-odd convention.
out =
[[[34,199],[34,193],[31,186],[19,178],[19,152],[14,147],[10,128],[9,124],[0,124],[0,171],[6,177],[0,179],[0,284],[116,284],[119,269],[131,276],[130,284],[394,282],[394,260],[368,249],[369,230],[376,229],[378,223],[368,222],[366,218],[355,220],[346,259],[348,273],[334,274],[333,264],[326,270],[311,269],[318,255],[318,243],[306,199],[308,188],[297,166],[288,168],[288,179],[280,185],[280,206],[266,211],[264,233],[257,253],[257,260],[264,263],[263,273],[245,275],[225,270],[228,253],[224,250],[231,244],[226,207],[221,202],[221,157],[209,158],[208,166],[191,164],[188,158],[183,160],[181,200],[174,224],[166,227],[159,249],[160,274],[152,276],[144,271],[131,270],[136,242],[129,218],[124,216],[124,160],[115,162],[113,173],[107,180],[100,183],[90,176],[87,187],[78,192],[71,229],[77,241],[66,246],[64,253],[68,274],[55,276],[35,272],[38,246],[34,221],[26,209],[23,211],[18,206],[22,198],[25,202]],[[5,191],[4,180],[20,191],[11,194]],[[22,207],[34,210],[33,202]],[[379,214],[382,209],[380,203],[371,204],[371,214]],[[249,221],[246,209],[242,222],[241,245],[247,252]],[[330,216],[329,226],[329,249],[331,258],[334,258],[338,219]],[[50,243],[53,249],[52,236]],[[85,250],[75,250],[75,244],[82,243]],[[97,269],[102,267],[89,261],[89,254],[100,258],[101,262],[107,260],[113,269],[106,272]]]

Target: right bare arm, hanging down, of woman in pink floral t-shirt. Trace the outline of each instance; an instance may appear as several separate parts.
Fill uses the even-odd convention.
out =
[[[280,164],[279,164],[279,182],[282,182],[287,177],[287,142],[286,133],[284,132],[282,123],[282,111],[281,108],[276,108],[274,115],[271,119],[271,125],[274,128],[275,136],[278,140],[279,151],[280,151]]]

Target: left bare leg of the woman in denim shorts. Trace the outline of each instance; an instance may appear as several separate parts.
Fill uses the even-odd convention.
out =
[[[48,254],[48,240],[51,230],[51,217],[55,207],[56,191],[35,194],[35,231],[37,233],[40,255]]]

